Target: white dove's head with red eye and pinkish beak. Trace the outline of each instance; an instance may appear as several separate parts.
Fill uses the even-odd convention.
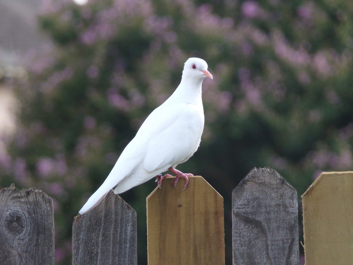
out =
[[[213,79],[213,76],[207,71],[207,63],[200,58],[189,58],[184,64],[183,78],[192,78],[203,80],[206,77]]]

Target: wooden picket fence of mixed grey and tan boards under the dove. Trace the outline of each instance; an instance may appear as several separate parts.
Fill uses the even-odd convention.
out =
[[[167,178],[147,201],[149,264],[225,264],[223,198],[202,177]],[[305,264],[353,264],[353,172],[323,172],[301,196]],[[299,264],[297,191],[254,168],[232,193],[233,264]],[[52,199],[0,193],[0,264],[54,264]],[[73,264],[137,264],[136,212],[110,191],[74,218]]]

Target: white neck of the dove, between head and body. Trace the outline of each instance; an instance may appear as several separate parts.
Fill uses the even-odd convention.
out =
[[[170,99],[202,106],[202,80],[203,78],[181,78],[179,86],[170,96]]]

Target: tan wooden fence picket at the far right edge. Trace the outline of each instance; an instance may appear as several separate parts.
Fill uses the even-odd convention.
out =
[[[353,264],[353,171],[322,172],[301,198],[305,264]]]

